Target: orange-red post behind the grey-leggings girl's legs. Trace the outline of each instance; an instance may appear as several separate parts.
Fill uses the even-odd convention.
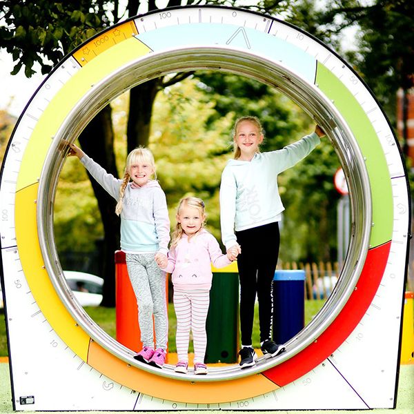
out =
[[[117,341],[132,351],[142,348],[141,331],[138,324],[137,298],[128,276],[125,253],[115,252],[115,300]],[[168,279],[166,279],[166,301],[168,304]]]

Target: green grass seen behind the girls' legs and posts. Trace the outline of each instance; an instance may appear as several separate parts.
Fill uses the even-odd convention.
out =
[[[319,312],[319,309],[324,305],[324,300],[311,300],[305,302],[305,324],[308,324],[311,319]],[[115,338],[115,308],[86,307],[86,313],[99,325],[103,331]],[[255,308],[255,324],[253,326],[253,346],[259,348],[259,318],[257,305]],[[174,306],[168,306],[168,349],[170,352],[175,352],[175,331],[177,328],[177,319],[175,318]],[[190,342],[189,352],[193,352],[193,343]],[[8,356],[7,339],[6,339],[6,321],[4,319],[4,311],[0,310],[0,357]]]

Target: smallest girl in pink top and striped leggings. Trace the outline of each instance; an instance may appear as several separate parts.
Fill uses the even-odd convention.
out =
[[[213,279],[211,263],[217,268],[231,263],[221,253],[215,237],[204,229],[204,202],[195,197],[181,199],[177,209],[177,225],[172,243],[161,268],[172,273],[174,308],[177,315],[177,354],[175,372],[188,371],[188,342],[193,331],[194,373],[206,374],[204,364],[207,334],[206,318]],[[237,254],[233,249],[233,254]],[[230,253],[229,253],[230,254]]]

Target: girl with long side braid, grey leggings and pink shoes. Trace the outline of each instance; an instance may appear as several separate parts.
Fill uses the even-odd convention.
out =
[[[152,152],[147,148],[132,150],[126,159],[123,179],[108,174],[75,144],[70,144],[69,155],[76,155],[90,175],[118,201],[115,213],[121,215],[121,250],[126,253],[128,275],[137,297],[143,344],[134,358],[162,368],[166,359],[168,314],[166,275],[158,264],[167,259],[170,219],[166,195],[158,181],[151,179],[155,175]]]

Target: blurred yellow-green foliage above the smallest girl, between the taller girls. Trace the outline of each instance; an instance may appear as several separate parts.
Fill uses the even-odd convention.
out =
[[[204,199],[208,228],[219,239],[218,190],[229,158],[232,114],[217,117],[215,102],[197,90],[197,79],[186,79],[161,91],[155,101],[150,149],[157,176],[167,195],[172,227],[179,199]]]

